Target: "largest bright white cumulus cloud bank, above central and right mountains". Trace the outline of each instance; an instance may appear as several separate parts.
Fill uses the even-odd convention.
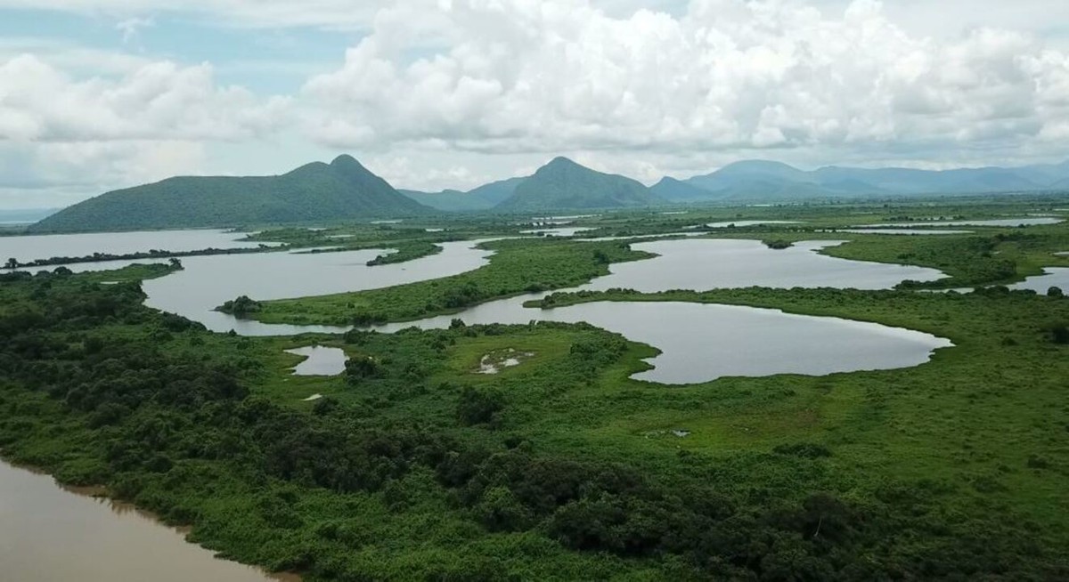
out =
[[[1029,35],[917,37],[872,0],[622,17],[586,0],[402,0],[301,98],[309,135],[335,147],[932,152],[1058,139],[1067,72]]]

